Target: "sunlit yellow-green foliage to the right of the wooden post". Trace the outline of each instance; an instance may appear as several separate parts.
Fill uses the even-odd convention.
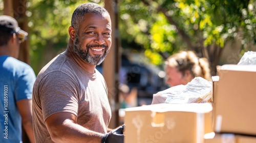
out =
[[[142,45],[157,65],[179,50],[194,50],[215,68],[227,41],[241,41],[243,51],[255,44],[254,1],[133,0],[119,5],[122,39]]]

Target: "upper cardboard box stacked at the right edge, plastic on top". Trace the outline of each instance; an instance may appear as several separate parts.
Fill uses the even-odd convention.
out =
[[[215,132],[256,135],[256,65],[223,65],[218,75]]]

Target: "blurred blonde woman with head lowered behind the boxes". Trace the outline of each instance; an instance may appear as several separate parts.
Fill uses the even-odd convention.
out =
[[[186,85],[195,77],[210,80],[209,62],[206,58],[199,58],[193,51],[181,51],[168,57],[165,61],[166,83],[170,87]]]

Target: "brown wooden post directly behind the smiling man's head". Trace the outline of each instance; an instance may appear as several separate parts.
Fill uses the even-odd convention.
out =
[[[119,126],[119,68],[121,65],[120,39],[118,35],[118,0],[106,0],[105,9],[109,11],[112,21],[112,46],[103,61],[103,76],[108,86],[109,102],[112,110],[110,128]]]

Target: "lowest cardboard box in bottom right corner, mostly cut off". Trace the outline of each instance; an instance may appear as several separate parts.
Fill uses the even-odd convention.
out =
[[[252,143],[256,142],[256,136],[237,135],[231,133],[216,133],[214,137],[205,137],[204,143]]]

